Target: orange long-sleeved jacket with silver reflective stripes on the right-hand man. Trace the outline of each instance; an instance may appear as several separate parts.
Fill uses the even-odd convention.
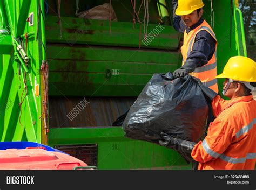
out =
[[[212,101],[213,115],[203,142],[191,153],[199,170],[254,170],[256,161],[256,101],[252,95]]]

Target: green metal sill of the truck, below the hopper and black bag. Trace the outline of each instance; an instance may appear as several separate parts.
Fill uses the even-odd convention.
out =
[[[190,169],[174,150],[124,137],[119,127],[53,128],[49,145],[98,145],[99,169]]]

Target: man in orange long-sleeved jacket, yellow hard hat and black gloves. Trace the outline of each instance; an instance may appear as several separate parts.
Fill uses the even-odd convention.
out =
[[[204,87],[212,99],[216,117],[208,128],[205,139],[188,142],[161,133],[159,143],[166,147],[191,153],[199,162],[199,170],[254,170],[256,161],[256,101],[251,91],[256,89],[256,63],[250,58],[236,56],[228,60],[223,73],[225,78],[223,100],[217,93]],[[195,78],[199,86],[200,80]]]

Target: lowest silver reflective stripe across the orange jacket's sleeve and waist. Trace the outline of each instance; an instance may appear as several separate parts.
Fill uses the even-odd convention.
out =
[[[207,154],[209,154],[210,156],[212,156],[214,158],[219,158],[221,160],[224,160],[224,161],[226,161],[228,163],[232,163],[232,164],[245,163],[246,160],[251,160],[251,159],[256,158],[256,153],[248,153],[246,155],[246,157],[242,157],[242,158],[233,158],[233,157],[226,156],[225,154],[219,154],[219,153],[213,151],[208,146],[205,139],[202,143],[202,146],[203,146],[204,150],[207,152]]]

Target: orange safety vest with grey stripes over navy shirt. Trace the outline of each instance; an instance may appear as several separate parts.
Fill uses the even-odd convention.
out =
[[[211,36],[216,40],[216,48],[212,59],[208,61],[206,65],[202,67],[197,67],[192,73],[190,73],[190,75],[199,78],[205,86],[211,88],[216,93],[218,93],[219,90],[217,79],[215,79],[215,76],[217,75],[217,39],[211,26],[205,20],[201,25],[196,27],[196,29],[193,29],[188,33],[186,31],[184,32],[184,41],[183,46],[181,47],[181,53],[183,56],[182,65],[184,65],[185,61],[187,60],[188,55],[190,55],[197,33],[201,30],[206,30],[208,33],[211,34]]]

